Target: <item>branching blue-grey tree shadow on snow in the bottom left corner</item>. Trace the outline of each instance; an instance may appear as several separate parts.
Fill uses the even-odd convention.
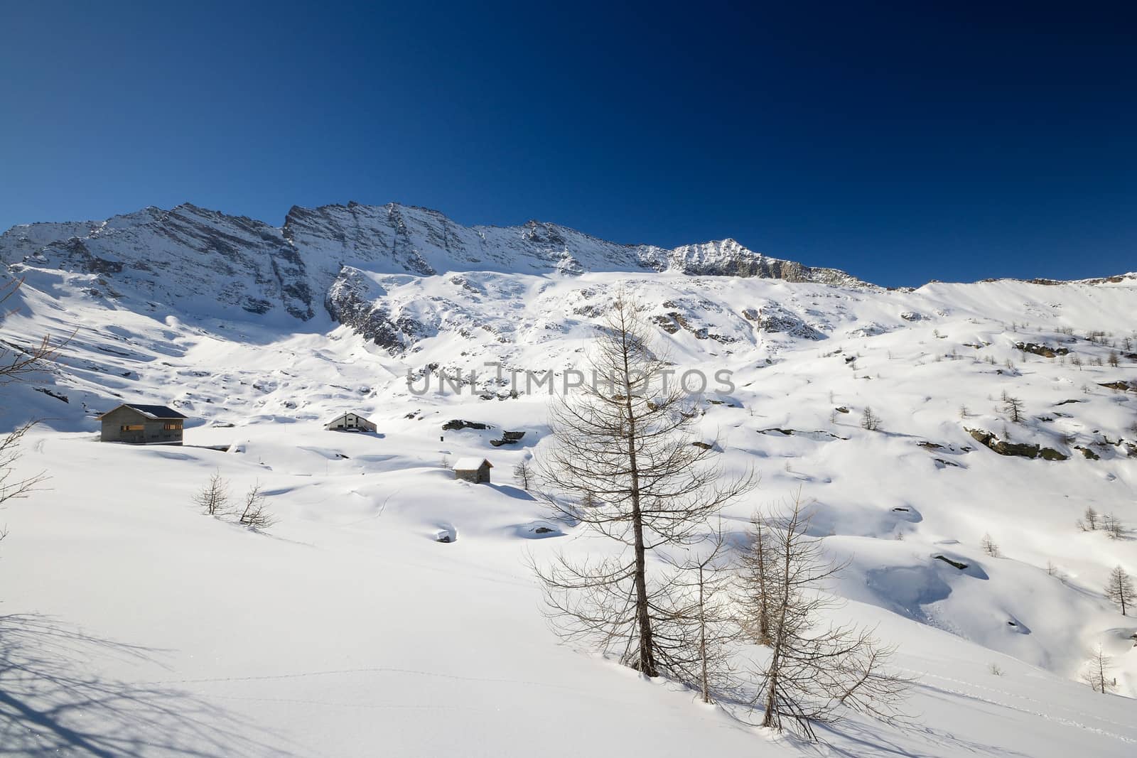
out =
[[[100,658],[141,664],[153,652],[50,616],[0,616],[0,756],[292,755],[201,697],[98,674]]]

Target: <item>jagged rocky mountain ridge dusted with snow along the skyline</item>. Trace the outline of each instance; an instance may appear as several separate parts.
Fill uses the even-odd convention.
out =
[[[182,205],[105,222],[31,224],[0,235],[16,270],[84,275],[91,297],[223,317],[241,313],[332,318],[391,345],[404,339],[371,300],[362,273],[433,276],[489,270],[565,275],[672,272],[870,286],[844,272],[767,258],[735,240],[673,250],[607,242],[543,222],[463,226],[435,210],[400,206],[292,208],[282,227]]]

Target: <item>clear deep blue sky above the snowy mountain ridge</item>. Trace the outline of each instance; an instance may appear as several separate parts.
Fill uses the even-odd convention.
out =
[[[393,200],[882,284],[1137,269],[1132,3],[0,2],[3,228]]]

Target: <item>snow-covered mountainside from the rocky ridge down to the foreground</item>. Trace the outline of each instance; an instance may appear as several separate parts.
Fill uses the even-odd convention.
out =
[[[812,750],[543,623],[526,557],[595,545],[509,473],[547,444],[534,380],[581,365],[621,291],[678,373],[729,372],[697,398],[702,434],[762,482],[728,528],[800,488],[849,561],[841,613],[920,676],[913,726],[854,718],[823,734],[833,752],[1137,747],[1137,620],[1102,593],[1114,566],[1137,574],[1135,275],[888,291],[732,241],[667,251],[400,206],[293,209],[283,228],[147,209],[16,227],[0,257],[26,278],[0,339],[69,335],[2,390],[3,430],[44,419],[20,470],[51,475],[3,514],[11,752]],[[191,417],[185,447],[99,443],[96,415],[123,401]],[[347,410],[379,433],[323,431]],[[524,436],[492,444],[505,431]],[[495,483],[455,482],[445,461],[464,456]],[[259,482],[279,523],[200,515],[214,472]],[[1079,530],[1087,507],[1122,538]],[[1129,697],[1078,682],[1097,644]]]

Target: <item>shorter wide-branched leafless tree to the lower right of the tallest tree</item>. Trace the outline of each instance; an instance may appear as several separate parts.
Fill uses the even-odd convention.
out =
[[[808,535],[800,493],[783,513],[762,520],[773,569],[762,725],[789,726],[816,740],[814,724],[833,723],[849,711],[896,720],[910,680],[888,670],[895,649],[882,647],[871,628],[822,620],[839,607],[825,590],[845,564],[827,560],[821,539]]]

